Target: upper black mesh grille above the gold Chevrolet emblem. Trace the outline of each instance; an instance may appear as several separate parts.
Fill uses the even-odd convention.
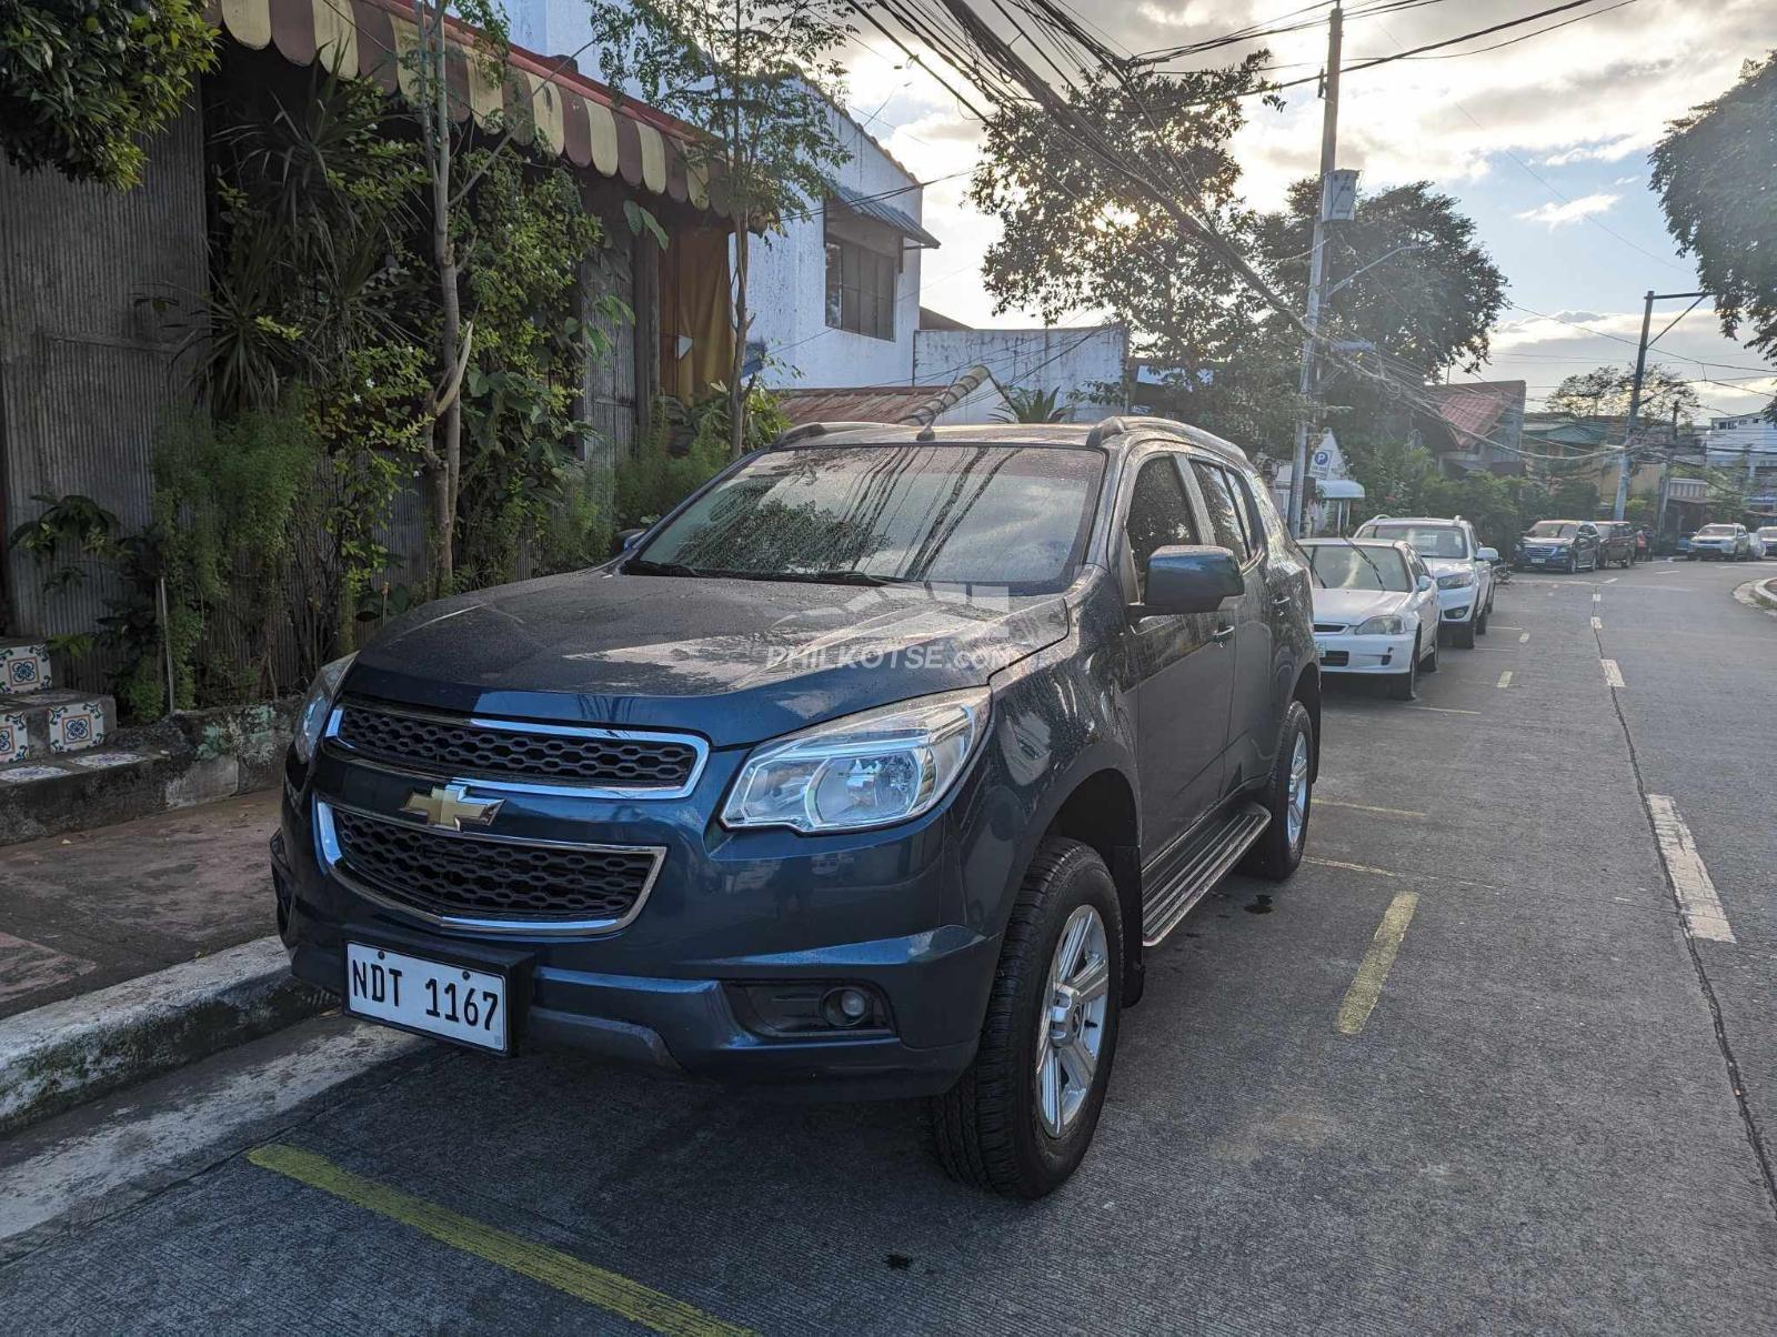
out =
[[[405,715],[347,702],[334,736],[368,757],[450,775],[514,775],[626,789],[682,789],[697,772],[689,740],[544,733],[521,722]]]

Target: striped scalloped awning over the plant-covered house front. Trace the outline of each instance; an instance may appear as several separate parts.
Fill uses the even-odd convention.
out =
[[[403,0],[210,0],[210,16],[242,46],[274,46],[299,66],[325,59],[389,92],[414,96],[416,76],[402,57],[419,30]],[[707,171],[686,158],[691,132],[679,121],[636,101],[617,105],[602,84],[517,46],[506,57],[505,82],[496,82],[487,60],[471,59],[476,30],[450,20],[450,36],[444,68],[457,121],[473,114],[485,126],[505,114],[514,137],[530,144],[533,117],[515,114],[528,100],[544,144],[576,167],[709,208]]]

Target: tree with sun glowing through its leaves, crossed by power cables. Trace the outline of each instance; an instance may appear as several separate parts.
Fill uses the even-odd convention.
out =
[[[1093,73],[1070,87],[1068,107],[1153,164],[1219,229],[1244,236],[1253,215],[1230,140],[1246,123],[1240,100],[1263,87],[1263,59],[1132,69],[1127,85]],[[1144,181],[1057,128],[1048,108],[993,110],[970,197],[1002,224],[983,263],[995,309],[1036,309],[1048,322],[1111,313],[1128,325],[1130,352],[1157,368],[1157,407],[1242,443],[1290,436],[1301,336]]]

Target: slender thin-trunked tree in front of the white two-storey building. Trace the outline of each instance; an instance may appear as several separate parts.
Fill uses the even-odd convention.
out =
[[[633,0],[592,5],[602,75],[700,132],[686,146],[734,224],[730,450],[746,443],[746,279],[752,233],[825,199],[849,158],[833,110],[853,36],[846,0]]]

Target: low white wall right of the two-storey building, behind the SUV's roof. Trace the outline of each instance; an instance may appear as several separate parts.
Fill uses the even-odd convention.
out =
[[[1121,382],[1128,356],[1123,325],[1091,329],[922,329],[913,343],[913,380],[944,386],[970,366],[986,366],[1006,389],[1054,389],[1080,396],[1073,421],[1098,421],[1121,402],[1086,400],[1100,382]]]

